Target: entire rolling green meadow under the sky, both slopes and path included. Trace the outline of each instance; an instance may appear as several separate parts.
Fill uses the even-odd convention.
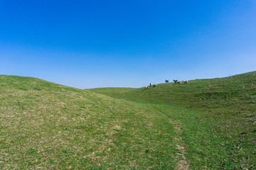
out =
[[[0,169],[256,169],[255,162],[256,72],[84,90],[0,75]]]

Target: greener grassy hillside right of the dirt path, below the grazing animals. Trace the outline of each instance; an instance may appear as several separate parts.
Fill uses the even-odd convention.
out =
[[[256,168],[256,72],[149,89],[90,91],[158,106],[180,120],[191,168]],[[183,113],[175,115],[174,110]]]

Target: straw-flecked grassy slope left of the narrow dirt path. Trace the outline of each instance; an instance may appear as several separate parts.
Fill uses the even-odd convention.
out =
[[[0,169],[176,169],[176,131],[142,103],[0,75]]]

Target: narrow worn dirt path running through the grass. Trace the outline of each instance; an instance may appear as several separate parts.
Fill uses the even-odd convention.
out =
[[[185,147],[183,147],[184,142],[181,137],[181,134],[182,134],[181,125],[179,125],[176,120],[169,118],[169,121],[174,125],[174,128],[177,130],[177,133],[178,133],[178,137],[174,137],[174,141],[177,143],[177,148],[179,150],[178,157],[177,157],[178,169],[189,169],[188,162],[185,157]]]

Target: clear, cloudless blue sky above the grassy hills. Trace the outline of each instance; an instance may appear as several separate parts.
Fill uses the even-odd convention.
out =
[[[255,71],[256,2],[0,0],[0,61],[80,89]]]

